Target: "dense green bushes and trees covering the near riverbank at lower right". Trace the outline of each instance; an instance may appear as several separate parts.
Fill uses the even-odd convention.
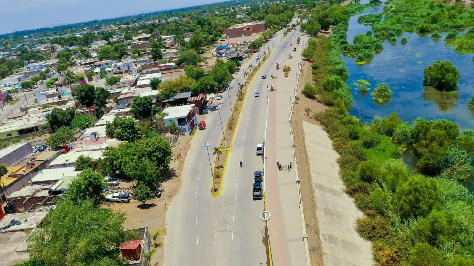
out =
[[[343,21],[329,37],[335,65],[346,30]],[[340,155],[346,194],[365,214],[356,231],[372,242],[376,265],[474,265],[474,197],[458,182],[473,170],[474,132],[459,133],[447,120],[417,118],[408,125],[396,113],[364,125],[348,115],[352,97],[340,70],[330,69],[321,89],[305,95],[329,106],[314,118]],[[414,169],[401,159],[409,147],[419,158]]]

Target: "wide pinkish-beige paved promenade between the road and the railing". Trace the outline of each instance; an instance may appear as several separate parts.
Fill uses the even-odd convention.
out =
[[[300,33],[298,33],[298,36]],[[288,36],[290,37],[290,36]],[[288,122],[292,108],[294,88],[297,86],[297,73],[302,50],[302,43],[296,45],[293,38],[292,46],[288,47],[280,69],[273,73],[270,93],[267,135],[265,143],[265,156],[267,166],[265,172],[265,195],[267,210],[272,214],[268,221],[269,238],[272,252],[273,265],[310,265],[309,254],[306,251],[303,228],[302,205],[300,205],[299,185],[296,182],[297,173],[294,167],[294,154],[291,125]],[[293,52],[293,47],[297,51]],[[289,59],[289,54],[292,59]],[[289,65],[291,71],[284,77],[283,66]],[[282,170],[276,166],[282,164]],[[292,168],[288,171],[288,165]]]

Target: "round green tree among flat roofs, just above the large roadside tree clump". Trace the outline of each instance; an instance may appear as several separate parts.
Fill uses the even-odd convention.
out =
[[[119,141],[134,142],[140,139],[140,126],[132,117],[116,116],[112,123],[105,124],[107,137]]]

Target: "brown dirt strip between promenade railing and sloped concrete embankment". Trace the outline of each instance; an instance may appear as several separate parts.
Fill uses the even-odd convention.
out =
[[[312,82],[311,63],[303,61],[301,69],[301,79],[298,84],[298,91],[304,88],[306,82]],[[298,94],[299,100],[293,109],[292,129],[295,142],[296,160],[298,160],[298,175],[301,182],[301,197],[304,202],[304,219],[306,231],[308,232],[308,245],[310,249],[310,260],[312,266],[324,266],[321,240],[319,238],[319,223],[316,214],[316,201],[314,198],[314,188],[311,182],[310,167],[304,143],[304,132],[302,121],[311,124],[319,123],[312,117],[314,113],[326,108],[323,104]]]

